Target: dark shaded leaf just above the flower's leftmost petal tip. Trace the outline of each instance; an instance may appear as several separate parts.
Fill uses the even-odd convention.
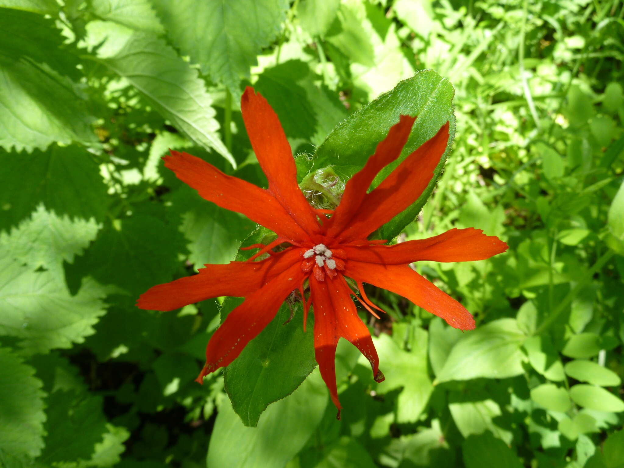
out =
[[[69,271],[92,276],[103,285],[118,286],[136,298],[152,286],[167,283],[181,262],[182,234],[152,215],[137,213],[106,223]]]

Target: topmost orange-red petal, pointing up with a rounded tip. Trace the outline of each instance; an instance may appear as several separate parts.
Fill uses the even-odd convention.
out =
[[[250,86],[241,97],[240,108],[251,147],[269,182],[268,191],[305,232],[319,233],[316,214],[297,184],[293,152],[277,115]]]

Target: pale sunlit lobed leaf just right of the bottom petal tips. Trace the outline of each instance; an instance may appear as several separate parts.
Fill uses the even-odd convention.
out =
[[[379,354],[379,367],[386,376],[376,391],[386,394],[402,388],[396,406],[396,421],[399,423],[416,422],[433,391],[427,372],[427,332],[422,328],[414,328],[412,342],[412,350],[403,351],[385,333],[374,339]]]

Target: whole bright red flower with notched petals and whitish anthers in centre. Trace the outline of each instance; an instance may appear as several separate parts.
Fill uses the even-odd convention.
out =
[[[232,363],[275,317],[291,291],[299,290],[304,327],[308,309],[313,306],[316,362],[339,416],[334,358],[340,338],[348,339],[366,356],[376,381],[384,379],[371,334],[351,299],[356,294],[344,276],[355,281],[361,293],[361,298],[356,297],[374,315],[373,309],[380,309],[366,298],[364,282],[406,297],[454,328],[469,330],[475,325],[472,315],[408,264],[418,260],[483,260],[504,252],[507,244],[473,228],[451,229],[429,239],[392,246],[380,245],[386,241],[367,240],[427,187],[449,140],[448,122],[367,193],[379,171],[399,157],[407,142],[415,118],[402,115],[364,168],[346,183],[340,204],[331,212],[315,210],[303,196],[290,145],[268,102],[248,87],[241,99],[241,111],[251,146],[268,179],[268,189],[225,175],[186,153],[172,151],[163,159],[165,166],[201,197],[243,213],[275,232],[277,239],[266,246],[253,246],[261,250],[249,261],[205,265],[198,275],[154,286],[140,296],[137,306],[167,311],[218,296],[245,298],[208,342],[206,364],[197,378],[202,383],[206,374]],[[279,252],[272,250],[283,243],[288,247]],[[266,252],[270,253],[268,258],[253,261]],[[307,300],[306,280],[310,286]]]

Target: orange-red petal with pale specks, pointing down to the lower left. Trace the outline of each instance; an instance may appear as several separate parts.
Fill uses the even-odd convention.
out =
[[[299,288],[304,274],[298,264],[291,265],[265,286],[246,296],[245,301],[228,314],[206,347],[206,364],[197,381],[218,368],[232,363],[243,348],[275,317],[281,303]]]

